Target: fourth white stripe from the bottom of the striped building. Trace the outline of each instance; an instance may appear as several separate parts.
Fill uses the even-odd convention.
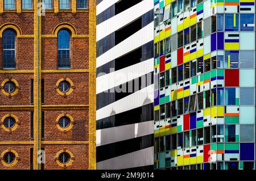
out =
[[[151,71],[154,71],[154,58],[102,75],[96,79],[96,94],[141,77]]]

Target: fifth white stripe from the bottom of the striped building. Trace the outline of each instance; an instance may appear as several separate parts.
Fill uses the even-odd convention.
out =
[[[151,22],[115,47],[101,54],[101,56],[96,59],[96,66],[98,68],[152,40],[154,40],[154,22]]]

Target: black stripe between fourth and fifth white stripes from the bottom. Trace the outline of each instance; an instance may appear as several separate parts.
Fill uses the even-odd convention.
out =
[[[154,40],[142,45],[141,47],[132,50],[124,56],[118,57],[96,69],[97,77],[104,74],[109,74],[110,70],[117,71],[128,66],[138,64],[154,57]]]

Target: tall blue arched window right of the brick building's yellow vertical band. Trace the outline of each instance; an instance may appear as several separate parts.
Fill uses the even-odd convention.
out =
[[[58,32],[58,68],[70,68],[70,34],[67,30]]]

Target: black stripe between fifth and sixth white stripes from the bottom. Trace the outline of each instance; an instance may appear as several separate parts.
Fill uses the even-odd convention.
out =
[[[120,31],[122,29],[125,30],[128,28],[125,34],[126,35],[129,34],[129,36],[133,35],[133,33],[139,31],[143,27],[145,27],[148,24],[150,24],[151,22],[153,22],[154,11],[150,10],[150,11],[146,12],[145,14],[143,14],[138,19],[141,19],[141,26],[136,26],[137,27],[136,30],[132,31],[131,28],[129,28],[130,24],[132,24],[132,23],[129,23],[129,24],[126,24],[125,26],[121,27],[118,31]],[[136,20],[134,20],[134,22],[135,21]],[[102,31],[104,31],[104,30],[102,30]],[[118,32],[118,31],[115,31],[115,32]],[[111,48],[113,48],[115,45],[117,45],[120,42],[117,40],[118,37],[117,37],[117,35],[115,35],[115,32],[112,32],[109,35],[102,38],[101,40],[97,41],[97,52],[96,52],[97,57],[101,56],[102,54],[104,54],[105,52],[107,52],[108,50],[110,50]]]

